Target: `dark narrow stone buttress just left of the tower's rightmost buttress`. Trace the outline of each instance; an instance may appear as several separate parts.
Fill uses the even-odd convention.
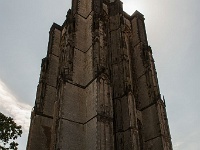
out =
[[[137,150],[138,128],[132,91],[129,35],[122,3],[110,4],[110,59],[114,104],[115,149]]]

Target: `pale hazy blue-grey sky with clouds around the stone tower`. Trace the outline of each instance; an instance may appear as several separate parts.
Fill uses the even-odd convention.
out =
[[[200,1],[122,0],[144,14],[174,150],[200,147]],[[0,111],[22,125],[26,149],[41,59],[49,29],[62,25],[71,0],[0,0]]]

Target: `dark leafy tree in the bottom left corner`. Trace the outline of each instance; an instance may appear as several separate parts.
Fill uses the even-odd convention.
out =
[[[18,126],[13,118],[7,117],[0,112],[0,149],[17,150],[18,143],[15,140],[22,134],[22,127]],[[9,147],[8,147],[9,146]]]

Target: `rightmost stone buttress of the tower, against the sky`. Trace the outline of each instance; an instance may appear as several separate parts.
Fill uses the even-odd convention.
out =
[[[157,81],[157,73],[152,56],[151,48],[148,46],[146,31],[144,26],[143,15],[135,12],[131,18],[132,23],[132,59],[135,72],[136,88],[134,90],[138,112],[142,117],[140,128],[143,134],[142,141],[145,149],[166,149],[170,140],[169,134],[163,134],[167,131],[163,129],[167,124],[161,119],[163,107],[159,103],[163,103],[160,97],[160,91]],[[169,137],[168,142],[163,140],[163,137]],[[166,138],[164,138],[166,139]],[[141,144],[140,144],[141,145]],[[172,149],[168,145],[168,149]]]

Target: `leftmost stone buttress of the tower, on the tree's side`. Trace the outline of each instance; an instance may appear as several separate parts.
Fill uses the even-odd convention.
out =
[[[57,24],[53,24],[50,30],[47,57],[42,61],[36,104],[32,112],[28,150],[49,150],[51,146],[60,53],[60,28]]]

